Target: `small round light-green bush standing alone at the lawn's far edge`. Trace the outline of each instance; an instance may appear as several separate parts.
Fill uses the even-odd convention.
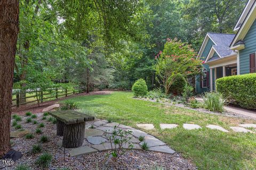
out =
[[[146,81],[143,79],[137,80],[132,86],[132,91],[135,97],[146,96],[148,92]]]

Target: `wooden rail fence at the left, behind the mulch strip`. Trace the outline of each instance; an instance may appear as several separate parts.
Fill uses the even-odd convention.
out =
[[[21,105],[26,105],[26,104],[35,103],[35,102],[39,104],[39,103],[43,103],[43,101],[45,100],[49,101],[49,100],[58,99],[59,97],[67,97],[70,95],[80,94],[84,92],[85,89],[80,88],[80,89],[68,90],[63,88],[57,88],[57,89],[49,89],[46,91],[50,91],[50,92],[44,92],[42,90],[16,92],[15,94],[12,95],[12,107],[19,107]],[[22,96],[21,94],[29,94],[29,95],[32,94],[32,96],[23,95],[26,97],[21,97]],[[37,95],[33,95],[33,94],[37,94]],[[26,102],[22,103],[24,99],[26,99]]]

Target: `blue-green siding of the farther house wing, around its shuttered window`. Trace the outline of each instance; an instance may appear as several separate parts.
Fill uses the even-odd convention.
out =
[[[206,57],[208,56],[208,54],[209,54],[209,52],[210,52],[210,50],[211,50],[211,48],[212,48],[212,45],[214,45],[214,43],[213,43],[213,41],[211,40],[211,39],[209,39],[208,41],[207,41],[207,44],[206,44],[206,46],[205,46],[205,48],[204,48],[204,51],[203,51],[203,53],[202,53],[202,57],[201,57],[201,60],[205,60],[206,59]],[[209,71],[210,69],[209,69],[209,65],[208,64],[204,64],[204,67],[207,69],[207,71]],[[213,74],[213,77],[214,77],[214,69],[212,70],[212,74]],[[198,93],[198,94],[201,94],[202,92],[205,92],[205,91],[210,91],[210,87],[209,88],[201,88],[201,85],[200,85],[200,76],[199,75],[197,75],[196,76],[196,92]],[[210,80],[209,80],[210,81]],[[209,82],[209,84],[210,84],[210,82]],[[214,82],[213,82],[213,88],[214,88]]]

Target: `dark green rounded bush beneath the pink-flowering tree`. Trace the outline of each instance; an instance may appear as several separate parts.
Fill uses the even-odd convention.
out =
[[[182,94],[183,89],[185,88],[187,84],[186,79],[184,78],[184,76],[180,73],[178,73],[176,75],[176,78],[174,80],[174,82],[172,83],[170,89],[169,89],[169,93],[172,92],[172,94]]]

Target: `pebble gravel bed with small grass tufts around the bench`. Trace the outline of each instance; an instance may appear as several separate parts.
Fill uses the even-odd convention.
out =
[[[57,141],[61,139],[56,135],[56,125],[47,120],[42,120],[42,114],[37,114],[36,120],[38,123],[44,123],[42,134],[36,134],[38,124],[26,123],[26,116],[21,116],[22,128],[31,131],[34,134],[34,139],[13,138],[11,141],[14,143],[13,149],[21,151],[23,156],[13,166],[3,167],[0,165],[0,169],[15,169],[15,166],[20,164],[27,164],[31,169],[42,169],[35,164],[35,160],[40,154],[32,154],[31,148],[33,145],[39,143],[39,139],[42,135],[46,135],[50,141],[41,143],[43,152],[52,154],[53,160],[49,169],[58,168],[70,168],[70,169],[155,169],[158,167],[164,167],[165,169],[196,169],[196,167],[190,163],[189,160],[182,158],[179,154],[163,154],[154,151],[143,150],[129,150],[123,155],[118,162],[110,161],[107,166],[105,162],[107,160],[107,154],[110,151],[97,152],[95,154],[82,155],[78,157],[69,157],[66,150],[64,160],[64,149],[57,146]],[[49,118],[50,116],[47,116]],[[86,122],[87,124],[93,124],[95,121]],[[12,127],[12,131],[15,129]]]

